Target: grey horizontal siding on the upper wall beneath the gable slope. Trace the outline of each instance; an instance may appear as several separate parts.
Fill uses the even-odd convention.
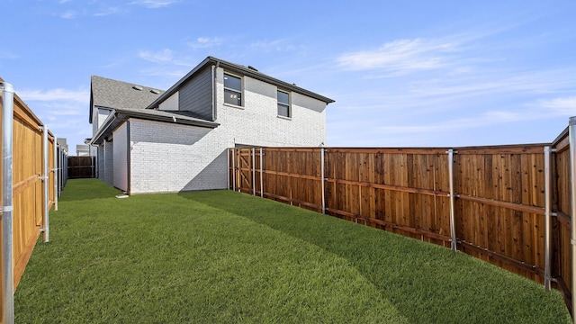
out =
[[[197,117],[213,121],[211,67],[206,67],[179,90],[179,110],[194,112]]]

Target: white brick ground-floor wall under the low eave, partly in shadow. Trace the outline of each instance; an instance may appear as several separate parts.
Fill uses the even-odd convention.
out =
[[[210,130],[130,119],[130,193],[225,188],[226,175],[222,185],[211,168],[225,148],[207,136]]]

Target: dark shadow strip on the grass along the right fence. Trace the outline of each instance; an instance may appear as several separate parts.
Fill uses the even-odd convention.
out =
[[[526,321],[527,310],[516,306],[523,300],[542,307],[530,311],[553,313],[551,323],[570,320],[560,293],[545,292],[526,278],[445,247],[231,191],[179,195],[347,259],[410,322]]]

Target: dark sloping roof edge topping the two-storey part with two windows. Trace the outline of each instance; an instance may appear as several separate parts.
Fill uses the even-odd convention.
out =
[[[148,109],[157,108],[158,104],[162,103],[170,95],[175,94],[175,92],[178,91],[178,89],[180,89],[180,86],[183,85],[186,81],[188,81],[188,79],[193,77],[198,71],[202,70],[202,68],[204,68],[204,67],[208,67],[208,66],[212,66],[212,65],[216,66],[216,67],[222,67],[225,70],[230,71],[230,72],[236,72],[236,73],[244,75],[244,76],[250,76],[250,77],[253,77],[257,80],[264,81],[264,82],[272,84],[272,85],[277,85],[277,86],[283,88],[284,90],[293,91],[293,92],[298,93],[298,94],[307,95],[307,96],[312,97],[314,99],[318,99],[324,103],[334,103],[334,100],[330,99],[329,97],[325,97],[321,94],[313,93],[313,92],[306,90],[300,86],[289,84],[289,83],[284,82],[282,80],[279,80],[275,77],[266,76],[264,73],[258,72],[257,69],[255,69],[253,67],[245,67],[242,65],[227,62],[227,61],[222,60],[220,58],[214,58],[214,57],[209,56],[208,58],[205,58],[199,65],[194,67],[192,69],[192,71],[188,72],[187,75],[185,75],[178,82],[176,82],[175,85],[172,85],[168,90],[166,90],[166,92],[159,95],[158,98],[153,103],[148,104],[147,108]]]

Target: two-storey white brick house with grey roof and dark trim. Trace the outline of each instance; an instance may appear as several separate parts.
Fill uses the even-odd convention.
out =
[[[319,147],[332,99],[205,58],[168,90],[92,76],[98,177],[128,193],[228,187],[228,148]]]

